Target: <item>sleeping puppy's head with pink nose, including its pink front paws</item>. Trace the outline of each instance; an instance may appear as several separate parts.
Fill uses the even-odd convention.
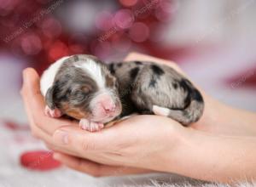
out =
[[[44,71],[40,86],[46,115],[71,116],[91,132],[122,111],[116,78],[94,56],[79,54],[57,60]]]

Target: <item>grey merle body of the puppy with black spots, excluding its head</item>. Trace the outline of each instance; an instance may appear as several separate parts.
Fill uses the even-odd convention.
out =
[[[168,116],[184,126],[197,122],[204,110],[200,92],[170,66],[131,61],[108,65],[119,82],[122,116],[134,111]]]

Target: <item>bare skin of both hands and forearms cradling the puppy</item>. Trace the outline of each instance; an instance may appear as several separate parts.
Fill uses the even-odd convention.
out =
[[[167,63],[183,73],[163,59],[135,53],[125,58],[135,59]],[[202,90],[205,111],[190,127],[142,115],[90,133],[78,122],[44,116],[37,72],[28,68],[23,79],[21,95],[32,134],[67,167],[96,177],[159,171],[225,183],[256,179],[255,113],[224,105]]]

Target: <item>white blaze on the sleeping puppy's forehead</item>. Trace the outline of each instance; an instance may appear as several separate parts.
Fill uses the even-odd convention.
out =
[[[106,79],[102,75],[102,65],[99,65],[93,59],[86,59],[86,61],[79,60],[75,66],[86,71],[95,80],[99,88],[105,88]]]

